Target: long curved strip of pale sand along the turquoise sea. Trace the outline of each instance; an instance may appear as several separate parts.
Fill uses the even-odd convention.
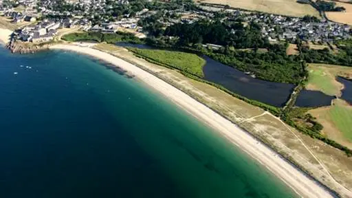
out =
[[[229,120],[206,107],[206,105],[201,104],[179,89],[169,85],[143,69],[140,69],[140,67],[132,65],[131,63],[123,61],[110,54],[94,50],[90,47],[80,47],[77,45],[53,45],[50,49],[69,50],[80,54],[87,54],[125,69],[127,72],[135,75],[138,80],[153,87],[153,89],[159,91],[166,98],[175,102],[179,107],[182,107],[199,120],[206,122],[206,124],[233,142],[233,144],[239,146],[239,148],[248,153],[248,155],[252,156],[263,164],[263,166],[271,170],[272,173],[281,178],[285,184],[293,188],[301,197],[333,197],[327,188],[321,186],[320,183],[305,175],[305,173],[296,168],[296,166],[293,166],[271,148],[256,140],[247,131],[239,128]]]

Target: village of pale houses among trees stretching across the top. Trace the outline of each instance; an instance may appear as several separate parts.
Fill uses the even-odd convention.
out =
[[[6,1],[8,2],[8,1]],[[61,1],[60,1],[61,2]],[[243,24],[258,23],[262,28],[262,36],[270,41],[287,41],[295,43],[296,39],[327,43],[351,37],[351,27],[340,23],[333,23],[325,19],[311,19],[309,16],[285,17],[261,12],[248,12],[243,10],[223,9],[211,10],[199,6],[197,9],[180,8],[168,10],[148,10],[143,8],[138,12],[126,10],[113,10],[116,6],[129,5],[129,1],[120,0],[111,4],[105,0],[80,0],[65,1],[57,4],[57,1],[17,1],[24,10],[16,10],[12,4],[0,1],[0,15],[12,19],[12,23],[27,21],[30,24],[21,27],[14,32],[16,39],[41,43],[52,41],[58,35],[58,29],[76,28],[76,30],[114,33],[118,31],[130,32],[142,39],[148,36],[139,23],[146,17],[151,17],[162,12],[162,17],[157,22],[164,28],[175,23],[194,23],[201,19],[221,21],[243,21]],[[61,2],[62,3],[62,2]],[[67,8],[66,8],[67,7]],[[60,8],[60,9],[59,9]],[[115,12],[120,13],[117,15]],[[223,17],[219,19],[219,13]]]

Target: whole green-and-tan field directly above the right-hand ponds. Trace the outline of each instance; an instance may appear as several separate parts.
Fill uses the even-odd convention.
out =
[[[307,89],[318,90],[330,96],[340,96],[343,87],[336,81],[336,76],[348,77],[352,75],[352,67],[339,65],[309,64]]]

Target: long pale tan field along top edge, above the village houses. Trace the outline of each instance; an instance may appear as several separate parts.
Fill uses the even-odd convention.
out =
[[[230,5],[233,8],[256,10],[272,14],[282,14],[292,17],[304,17],[313,15],[319,17],[311,5],[297,3],[296,0],[197,0],[201,3],[217,3]]]

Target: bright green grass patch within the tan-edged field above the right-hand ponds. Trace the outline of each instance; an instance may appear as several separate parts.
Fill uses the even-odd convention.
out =
[[[327,95],[334,96],[338,87],[333,85],[331,82],[331,76],[325,73],[321,68],[311,69],[309,71],[308,84],[313,85],[320,91],[324,92]]]

